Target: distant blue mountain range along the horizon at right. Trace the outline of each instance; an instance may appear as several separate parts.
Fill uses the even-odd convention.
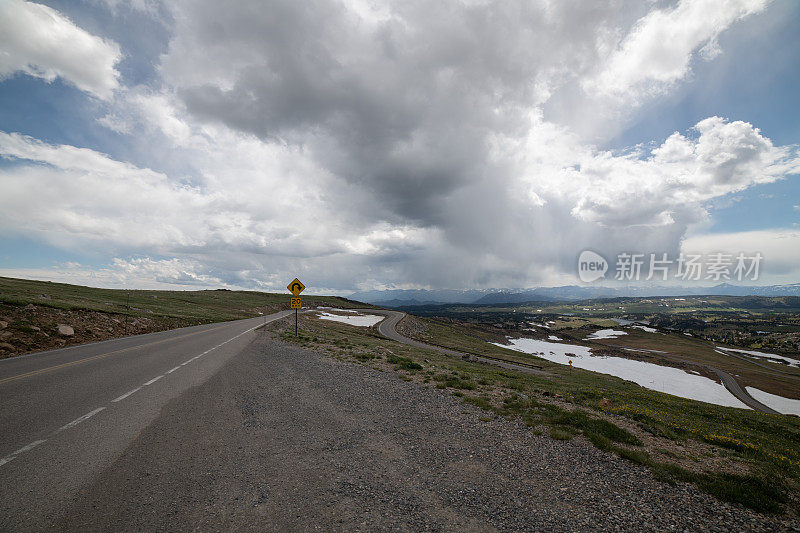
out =
[[[424,290],[393,289],[362,291],[350,296],[353,300],[382,305],[406,307],[437,304],[514,304],[523,302],[554,302],[590,300],[593,298],[621,298],[626,296],[800,296],[800,283],[767,285],[762,287],[722,283],[713,287],[537,287],[535,289],[468,289]]]

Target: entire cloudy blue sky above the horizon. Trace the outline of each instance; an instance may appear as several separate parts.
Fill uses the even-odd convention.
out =
[[[794,0],[0,0],[0,275],[800,282]]]

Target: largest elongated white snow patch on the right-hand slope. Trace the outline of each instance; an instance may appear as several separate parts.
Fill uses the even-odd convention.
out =
[[[599,333],[599,332],[598,332]],[[509,339],[509,345],[492,343],[547,359],[562,365],[572,361],[573,366],[601,374],[610,374],[642,387],[701,402],[749,409],[724,385],[703,376],[689,374],[678,368],[634,361],[623,357],[596,357],[591,348],[574,344],[548,342],[538,339]]]

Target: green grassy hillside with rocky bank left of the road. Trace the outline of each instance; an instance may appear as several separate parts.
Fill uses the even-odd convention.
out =
[[[96,289],[0,277],[0,358],[124,335],[257,317],[289,308],[289,293]],[[307,306],[364,307],[334,296]],[[59,325],[74,330],[58,333]],[[3,326],[3,324],[0,324]]]

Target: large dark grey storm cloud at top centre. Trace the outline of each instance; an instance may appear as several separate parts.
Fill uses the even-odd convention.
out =
[[[230,67],[173,80],[191,113],[307,146],[372,190],[388,219],[423,225],[446,223],[437,206],[459,188],[502,185],[492,137],[524,134],[528,110],[559,70],[585,61],[610,11],[402,2],[365,21],[330,1],[190,5],[170,56]]]

